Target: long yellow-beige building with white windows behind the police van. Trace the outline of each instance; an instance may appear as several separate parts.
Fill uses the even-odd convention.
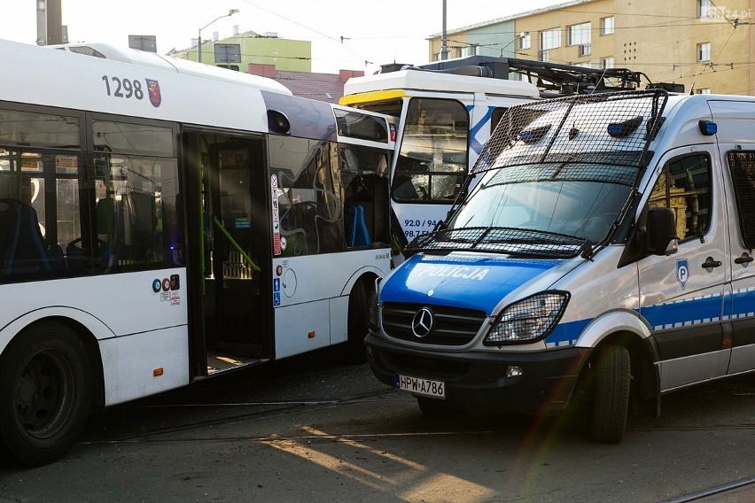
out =
[[[755,95],[755,0],[573,0],[447,31],[448,57],[473,54],[627,67],[685,92]],[[440,35],[429,39],[440,58]]]

